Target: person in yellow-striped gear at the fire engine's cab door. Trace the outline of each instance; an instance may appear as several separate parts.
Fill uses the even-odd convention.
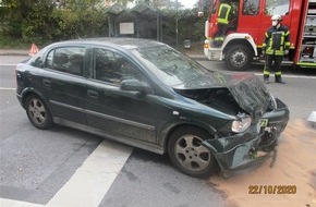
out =
[[[214,38],[215,47],[220,47],[224,40],[224,35],[229,24],[230,12],[231,12],[230,4],[226,2],[220,3],[217,17],[218,31]]]

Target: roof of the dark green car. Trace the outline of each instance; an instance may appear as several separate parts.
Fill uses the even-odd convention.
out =
[[[142,39],[142,38],[85,38],[85,39],[73,39],[66,41],[59,41],[53,45],[71,45],[71,44],[83,44],[83,45],[96,45],[96,46],[111,46],[111,47],[121,47],[127,50],[136,48],[148,48],[162,46],[165,44],[155,41],[151,39]]]

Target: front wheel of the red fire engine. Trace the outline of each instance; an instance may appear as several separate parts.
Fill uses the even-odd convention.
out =
[[[224,62],[231,71],[247,70],[253,61],[253,52],[244,45],[230,47],[224,56]]]

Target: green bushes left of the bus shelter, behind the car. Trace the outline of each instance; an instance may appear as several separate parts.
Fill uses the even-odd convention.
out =
[[[99,0],[4,0],[2,35],[25,42],[50,41],[106,34],[106,15]]]

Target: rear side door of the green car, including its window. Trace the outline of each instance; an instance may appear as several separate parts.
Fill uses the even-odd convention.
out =
[[[42,89],[54,118],[85,124],[85,48],[51,49],[45,61]]]

